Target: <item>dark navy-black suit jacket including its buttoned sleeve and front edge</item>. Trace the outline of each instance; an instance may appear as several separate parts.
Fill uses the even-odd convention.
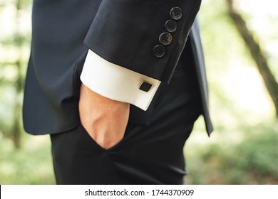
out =
[[[26,131],[55,134],[80,124],[79,76],[88,49],[111,63],[170,82],[187,43],[195,60],[210,134],[205,63],[195,21],[200,3],[201,0],[34,0],[24,95]],[[173,8],[177,7],[173,16]],[[158,58],[155,46],[161,45],[160,35],[167,32],[165,22],[170,19],[177,23],[177,29],[171,33],[170,45],[162,45],[164,55]],[[148,112],[132,107],[130,121],[144,114]]]

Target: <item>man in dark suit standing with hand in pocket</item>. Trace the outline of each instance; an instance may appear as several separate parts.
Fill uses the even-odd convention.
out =
[[[24,127],[51,134],[58,184],[183,183],[182,149],[200,114],[212,131],[199,9],[34,0]]]

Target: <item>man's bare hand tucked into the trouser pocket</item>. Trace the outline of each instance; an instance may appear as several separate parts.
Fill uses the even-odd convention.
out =
[[[81,84],[79,99],[81,124],[103,149],[110,149],[123,139],[129,110],[130,104],[98,95]]]

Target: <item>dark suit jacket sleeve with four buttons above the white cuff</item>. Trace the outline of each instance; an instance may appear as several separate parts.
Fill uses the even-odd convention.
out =
[[[169,82],[201,0],[103,0],[84,43],[123,68]]]

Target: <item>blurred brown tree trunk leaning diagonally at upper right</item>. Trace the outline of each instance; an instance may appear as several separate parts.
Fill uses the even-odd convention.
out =
[[[272,71],[269,69],[269,64],[267,63],[264,51],[259,46],[259,43],[254,40],[254,34],[247,28],[246,22],[242,16],[235,10],[234,1],[227,0],[227,4],[229,8],[228,14],[235,23],[235,27],[240,33],[240,36],[243,38],[244,43],[247,45],[247,48],[257,65],[260,75],[262,75],[264,84],[267,87],[270,97],[272,98],[272,102],[274,103],[276,116],[278,117],[278,83],[275,80]]]

